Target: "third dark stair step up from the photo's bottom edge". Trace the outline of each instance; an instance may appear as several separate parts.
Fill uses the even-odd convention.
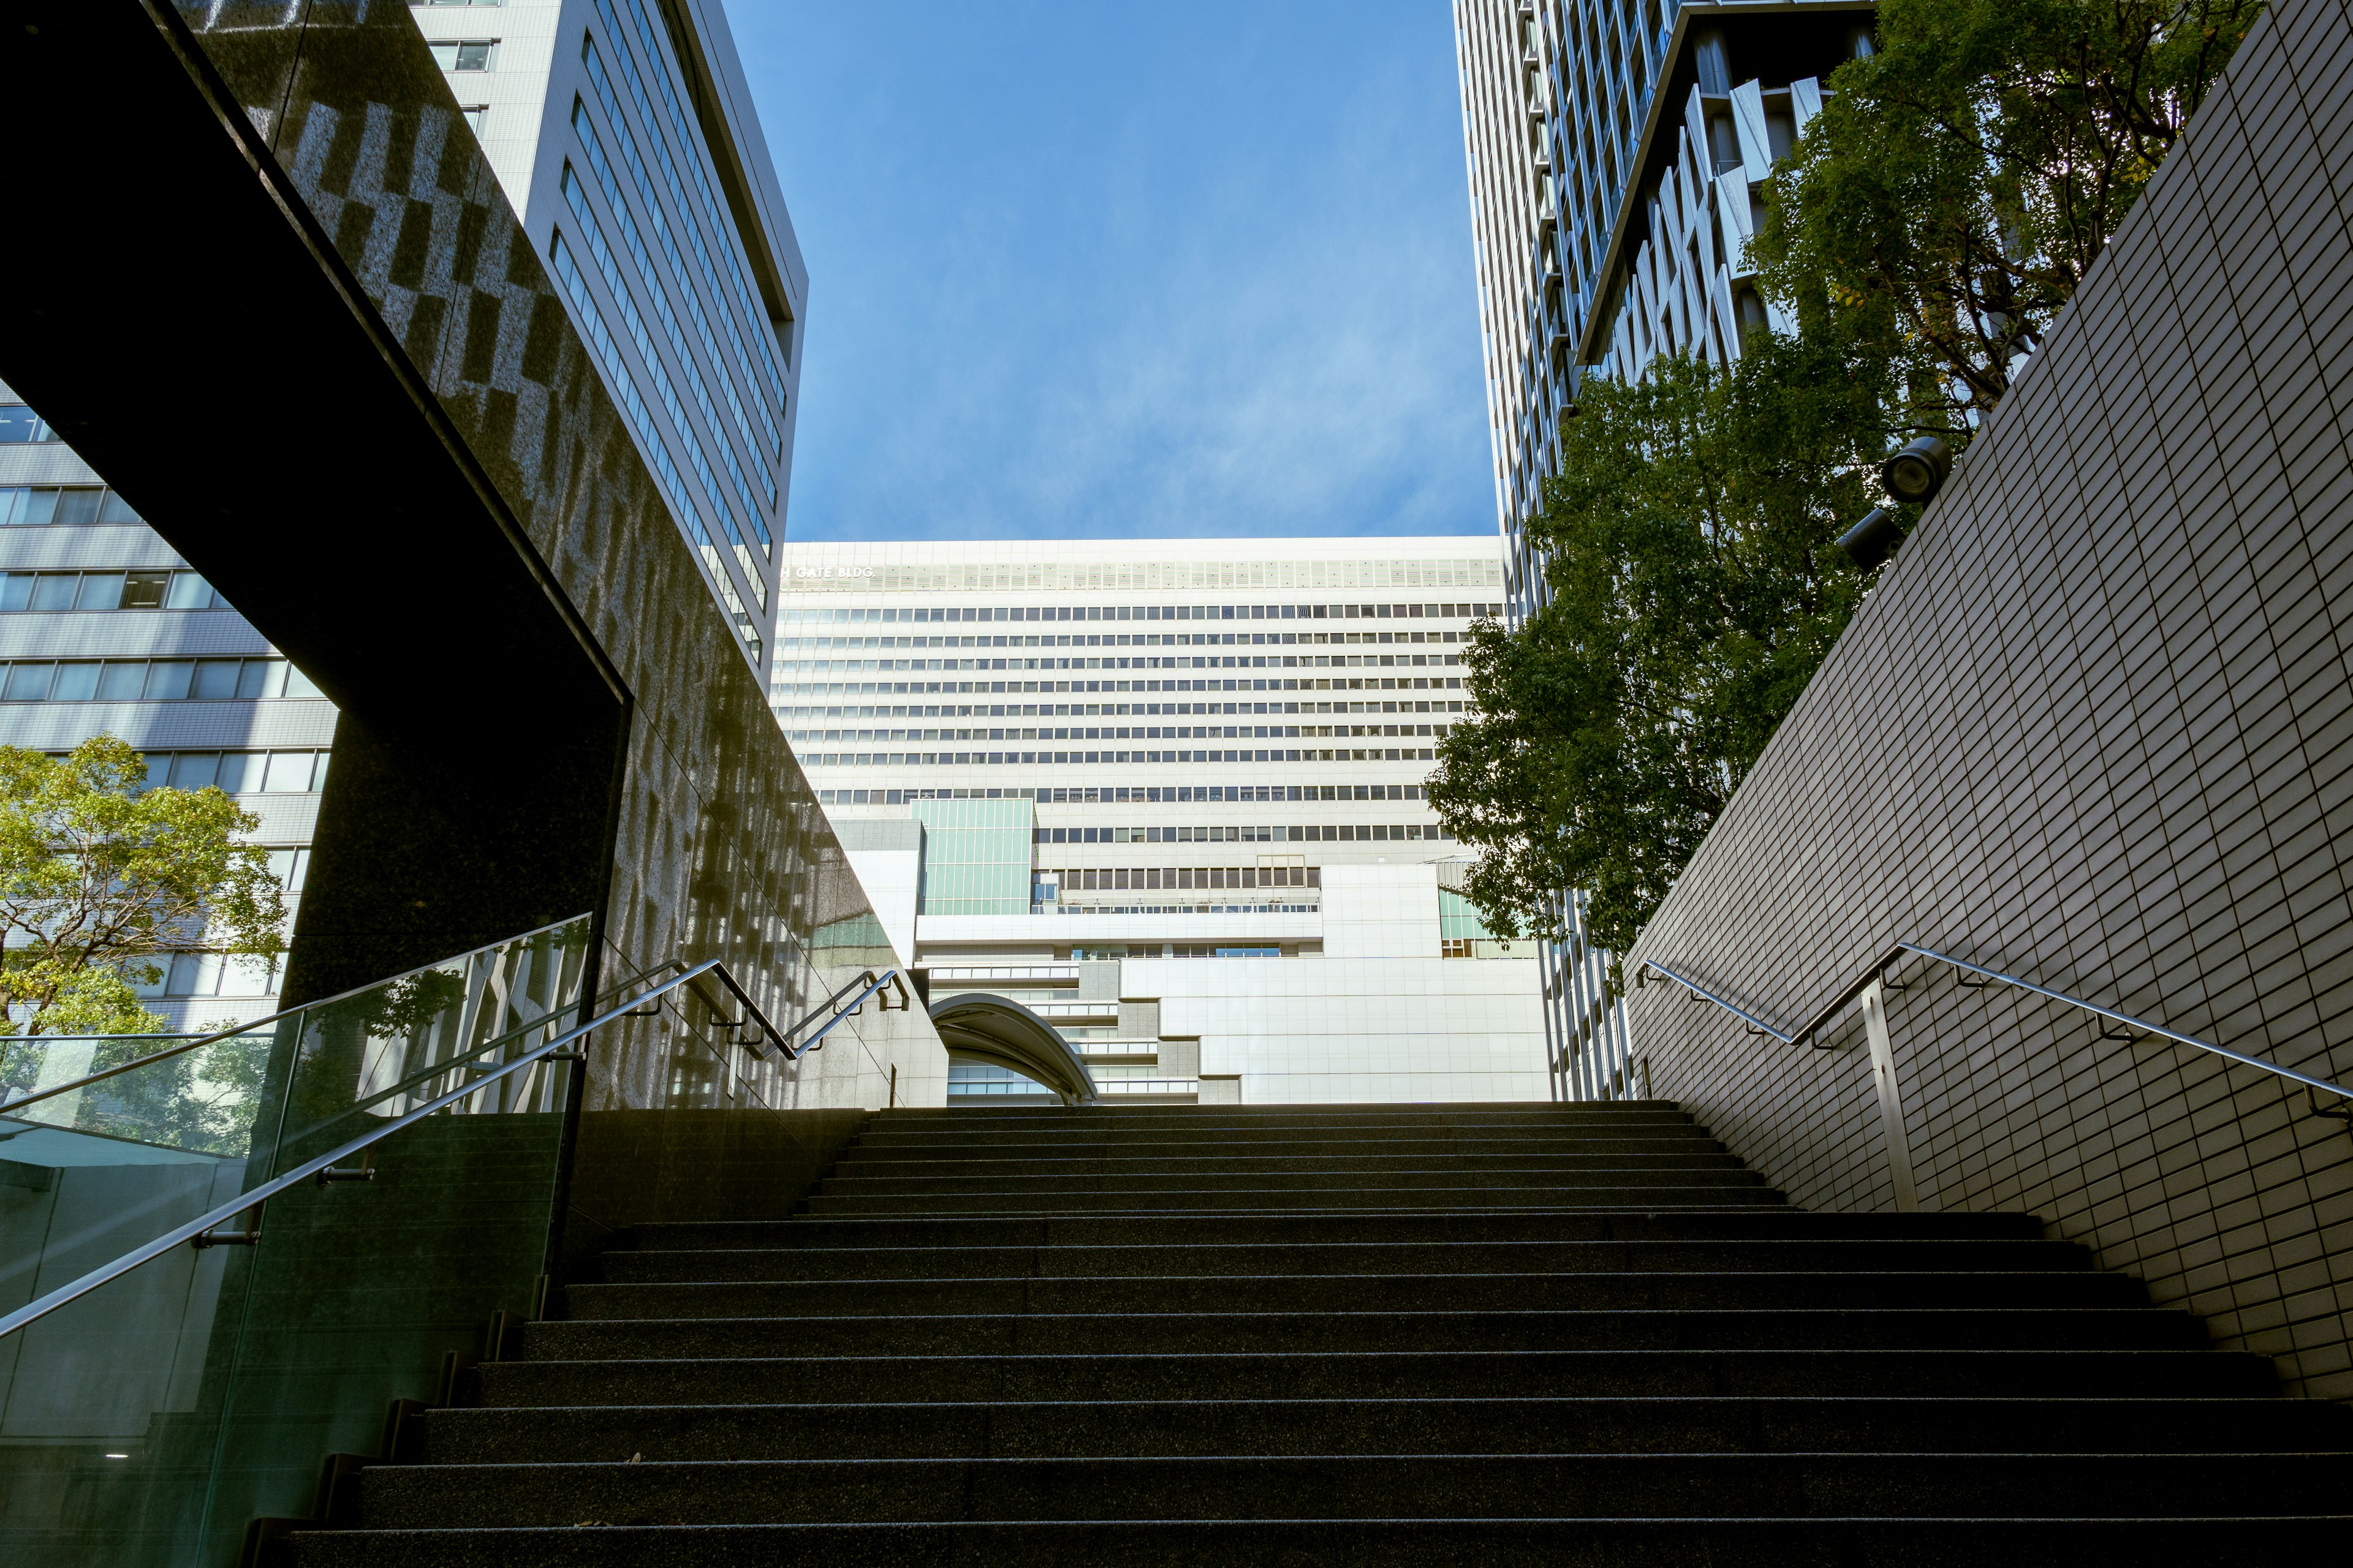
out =
[[[1176,1399],[433,1410],[428,1465],[1372,1453],[2353,1450],[2280,1399]],[[626,1450],[626,1453],[621,1453]]]

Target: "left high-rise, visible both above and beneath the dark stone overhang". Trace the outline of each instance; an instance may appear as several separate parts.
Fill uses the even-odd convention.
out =
[[[758,670],[807,273],[718,0],[409,9]],[[228,790],[299,896],[334,705],[7,388],[0,574],[0,743],[113,733]],[[252,1018],[278,978],[184,954],[148,1009]]]

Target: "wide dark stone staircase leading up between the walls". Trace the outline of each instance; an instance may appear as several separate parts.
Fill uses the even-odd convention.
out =
[[[2353,1413],[1673,1105],[882,1112],[642,1227],[301,1568],[2318,1563]],[[2327,1519],[2334,1516],[2334,1519]]]

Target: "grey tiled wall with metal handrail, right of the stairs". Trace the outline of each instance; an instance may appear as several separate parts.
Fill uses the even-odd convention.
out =
[[[1915,940],[2353,1079],[2353,26],[2282,0],[1781,726],[1635,957],[1793,1030]],[[1631,971],[1631,966],[1628,966]],[[1927,1208],[2040,1213],[2353,1396],[2353,1131],[2186,1046],[1889,997]],[[1633,992],[1652,1093],[1889,1208],[1861,1020]]]

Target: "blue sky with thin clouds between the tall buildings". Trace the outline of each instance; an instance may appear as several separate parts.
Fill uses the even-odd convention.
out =
[[[809,263],[791,538],[1494,529],[1440,0],[729,21]]]

